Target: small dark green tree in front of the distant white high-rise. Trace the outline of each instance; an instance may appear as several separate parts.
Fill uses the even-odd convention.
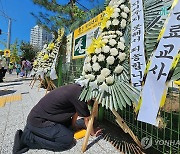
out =
[[[21,42],[20,49],[22,51],[22,56],[29,61],[32,61],[38,52],[37,48],[23,41]]]

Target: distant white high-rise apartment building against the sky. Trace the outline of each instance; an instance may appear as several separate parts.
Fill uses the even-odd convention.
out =
[[[38,48],[39,50],[43,48],[44,44],[50,42],[52,38],[52,34],[44,30],[39,25],[36,25],[31,29],[30,44],[33,45],[33,47]]]

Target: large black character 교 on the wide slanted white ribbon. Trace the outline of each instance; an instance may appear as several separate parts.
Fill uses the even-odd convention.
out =
[[[164,51],[160,51],[160,55],[159,56],[155,56],[156,58],[169,58],[169,59],[173,59],[172,56],[168,56],[168,54],[171,53],[171,51],[174,49],[174,45],[173,44],[168,44],[168,45],[163,45],[165,48],[169,48],[169,50],[164,50]]]

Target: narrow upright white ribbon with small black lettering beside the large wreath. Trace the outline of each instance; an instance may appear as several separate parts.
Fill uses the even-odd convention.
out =
[[[144,13],[142,0],[131,0],[131,82],[141,90],[144,70]]]

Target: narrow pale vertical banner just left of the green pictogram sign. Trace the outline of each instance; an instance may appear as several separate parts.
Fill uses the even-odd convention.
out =
[[[66,63],[71,62],[71,53],[72,53],[72,36],[73,33],[67,36],[67,43],[66,43]]]

